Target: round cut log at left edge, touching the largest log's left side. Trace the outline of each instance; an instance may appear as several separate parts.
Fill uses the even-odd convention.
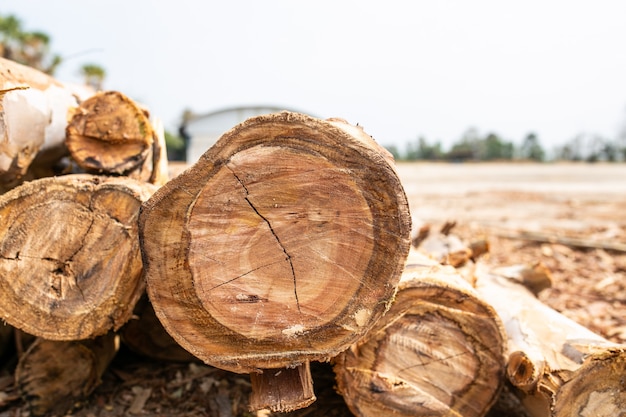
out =
[[[137,218],[156,186],[66,175],[0,196],[0,317],[77,340],[120,328],[144,292]]]

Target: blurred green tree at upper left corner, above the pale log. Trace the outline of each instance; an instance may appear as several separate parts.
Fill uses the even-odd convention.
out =
[[[39,31],[25,31],[15,16],[0,16],[0,42],[3,58],[48,74],[54,74],[61,64],[61,57],[50,53],[50,37]]]

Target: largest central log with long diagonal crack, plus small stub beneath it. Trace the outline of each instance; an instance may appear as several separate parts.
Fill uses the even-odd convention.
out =
[[[389,153],[343,120],[290,112],[225,133],[139,221],[165,329],[206,363],[253,373],[251,407],[274,410],[313,401],[309,361],[384,314],[410,245]]]

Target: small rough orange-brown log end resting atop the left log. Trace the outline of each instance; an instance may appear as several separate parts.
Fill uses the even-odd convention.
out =
[[[159,124],[162,130],[162,126]],[[67,126],[72,159],[86,172],[125,175],[164,184],[165,144],[148,112],[118,91],[99,92],[80,104]]]

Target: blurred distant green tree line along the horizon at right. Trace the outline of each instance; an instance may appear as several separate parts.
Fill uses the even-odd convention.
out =
[[[626,128],[617,139],[599,135],[580,134],[563,145],[546,150],[536,133],[528,133],[519,143],[505,140],[490,132],[480,134],[468,129],[449,149],[441,141],[430,142],[420,136],[408,142],[404,150],[387,146],[398,161],[513,161],[547,160],[586,162],[626,162]]]

